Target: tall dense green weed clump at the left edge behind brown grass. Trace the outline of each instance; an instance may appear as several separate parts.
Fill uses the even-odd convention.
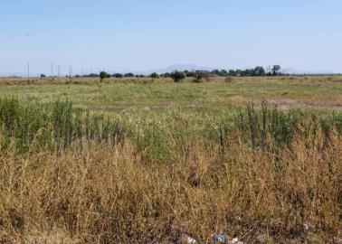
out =
[[[24,106],[18,99],[0,99],[2,150],[9,146],[18,152],[28,152],[31,147],[52,151],[72,145],[82,147],[91,141],[101,143],[119,138],[121,131],[116,126],[115,121],[103,115],[73,108],[69,101]]]

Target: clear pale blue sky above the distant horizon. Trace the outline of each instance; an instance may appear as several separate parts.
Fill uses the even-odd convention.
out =
[[[191,63],[342,72],[340,0],[0,0],[0,74]],[[56,68],[55,68],[56,70]]]

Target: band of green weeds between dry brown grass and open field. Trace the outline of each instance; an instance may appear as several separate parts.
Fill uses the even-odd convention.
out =
[[[196,139],[206,145],[229,145],[225,138],[233,132],[244,135],[252,148],[290,145],[294,134],[328,135],[332,128],[342,132],[342,112],[279,110],[263,102],[261,109],[222,109],[215,112],[189,112],[173,108],[166,112],[127,110],[115,116],[77,108],[70,101],[52,103],[20,102],[15,98],[0,99],[0,149],[14,146],[18,152],[61,150],[95,144],[134,142],[156,161],[167,161],[175,150]]]

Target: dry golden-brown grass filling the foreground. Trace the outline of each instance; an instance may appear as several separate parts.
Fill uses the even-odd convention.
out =
[[[84,153],[0,157],[1,243],[176,242],[212,233],[332,242],[341,227],[342,140],[295,139],[277,154],[238,134],[224,152],[191,142],[149,162],[126,142]],[[309,232],[303,225],[309,225]],[[323,243],[323,242],[322,242]]]

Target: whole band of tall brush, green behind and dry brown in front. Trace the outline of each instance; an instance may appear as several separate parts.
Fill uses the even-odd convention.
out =
[[[239,108],[94,115],[0,100],[1,243],[332,243],[342,115]],[[326,241],[326,242],[323,242]],[[318,242],[320,243],[320,242]]]

